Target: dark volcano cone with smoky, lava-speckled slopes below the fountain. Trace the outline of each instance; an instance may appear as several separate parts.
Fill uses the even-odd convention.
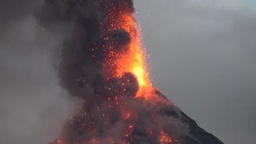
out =
[[[79,114],[66,122],[62,134],[52,144],[223,144],[213,134],[198,126],[158,90],[152,94],[157,99],[154,99],[154,104],[140,98],[131,98],[132,102],[128,102],[130,97],[125,98],[138,113],[133,111],[120,116],[121,104],[114,107],[114,110],[103,113],[103,117],[107,117],[106,122],[101,118],[100,109],[105,109],[104,106],[84,113],[85,106]],[[130,106],[126,108],[130,109]],[[90,126],[86,126],[87,123]]]

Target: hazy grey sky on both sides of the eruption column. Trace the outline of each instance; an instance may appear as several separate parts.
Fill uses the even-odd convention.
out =
[[[253,144],[255,2],[134,3],[155,85],[223,142]],[[59,37],[38,26],[37,4],[0,1],[0,143],[50,142],[77,104],[58,87],[52,61]]]

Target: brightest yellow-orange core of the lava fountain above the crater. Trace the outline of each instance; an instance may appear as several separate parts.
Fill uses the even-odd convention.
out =
[[[117,59],[117,76],[124,72],[132,72],[138,78],[139,86],[150,86],[148,72],[146,70],[145,54],[142,50],[138,26],[133,14],[121,14],[121,27],[131,36],[128,54]]]

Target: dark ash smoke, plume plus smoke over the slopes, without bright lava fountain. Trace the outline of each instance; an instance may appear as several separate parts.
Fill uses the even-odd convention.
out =
[[[126,30],[108,28],[123,13],[134,13],[132,0],[46,0],[38,13],[38,21],[46,29],[58,31],[59,25],[67,26],[57,64],[58,80],[70,96],[84,101],[59,138],[67,143],[90,143],[94,138],[100,143],[159,143],[164,131],[173,138],[172,143],[185,143],[189,130],[171,102],[156,90],[152,92],[155,102],[134,98],[138,91],[134,74],[128,71],[117,78],[104,67],[110,52],[122,55],[130,48]],[[126,112],[131,114],[128,119],[123,118]]]

